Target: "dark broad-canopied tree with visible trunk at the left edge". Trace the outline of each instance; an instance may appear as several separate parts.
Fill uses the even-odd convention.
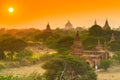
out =
[[[14,52],[23,50],[26,45],[24,41],[11,37],[0,41],[0,50],[8,51],[8,55],[13,59]]]

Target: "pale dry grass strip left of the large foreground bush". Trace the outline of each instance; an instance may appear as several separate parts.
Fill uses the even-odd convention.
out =
[[[24,76],[24,75],[29,75],[33,72],[37,72],[40,74],[43,74],[45,70],[41,68],[42,64],[37,64],[33,66],[25,66],[25,67],[20,67],[20,68],[7,68],[4,70],[0,71],[0,75],[19,75],[19,76]]]

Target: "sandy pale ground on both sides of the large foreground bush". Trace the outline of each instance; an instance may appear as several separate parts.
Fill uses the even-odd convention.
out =
[[[43,64],[37,64],[33,66],[26,66],[26,67],[20,67],[20,68],[8,68],[0,71],[0,75],[29,75],[33,72],[37,72],[40,74],[43,74],[45,70],[41,68]],[[107,72],[103,71],[96,71],[98,80],[120,80],[120,65],[113,66],[108,69]]]

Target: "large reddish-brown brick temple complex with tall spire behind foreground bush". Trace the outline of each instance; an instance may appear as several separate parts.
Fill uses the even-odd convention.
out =
[[[100,65],[100,60],[109,58],[109,52],[106,49],[107,49],[106,43],[104,43],[103,48],[100,43],[100,40],[98,40],[97,46],[95,47],[94,50],[84,50],[81,39],[79,37],[79,33],[77,31],[76,37],[71,47],[71,55],[85,58],[86,62],[91,67],[97,69]]]

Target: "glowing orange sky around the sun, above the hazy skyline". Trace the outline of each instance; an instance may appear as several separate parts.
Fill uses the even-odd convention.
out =
[[[120,25],[119,0],[0,0],[1,26],[43,28],[49,22],[64,27],[70,20],[75,27],[89,27],[95,19],[103,26],[106,18],[112,27]]]

